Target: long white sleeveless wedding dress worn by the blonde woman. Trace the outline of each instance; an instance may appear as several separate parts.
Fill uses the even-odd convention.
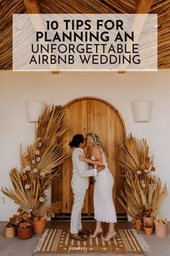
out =
[[[105,166],[103,171],[97,173],[94,184],[94,218],[97,221],[103,222],[117,222],[115,205],[112,198],[112,188],[114,179],[109,171],[108,163],[105,160],[102,152],[102,161]],[[94,155],[91,157],[94,159]]]

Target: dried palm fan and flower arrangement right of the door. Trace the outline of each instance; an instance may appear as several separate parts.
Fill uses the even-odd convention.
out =
[[[125,192],[118,198],[128,215],[133,218],[156,216],[168,195],[166,184],[154,176],[153,157],[148,155],[146,140],[131,134],[120,142],[120,166],[125,174]],[[147,214],[148,213],[148,214]]]

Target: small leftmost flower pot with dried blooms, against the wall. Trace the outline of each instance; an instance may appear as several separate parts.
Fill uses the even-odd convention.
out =
[[[17,236],[17,214],[14,214],[11,218],[9,218],[9,222],[4,227],[4,237],[5,238],[13,238]]]

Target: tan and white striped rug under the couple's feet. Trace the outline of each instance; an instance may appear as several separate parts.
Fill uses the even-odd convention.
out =
[[[109,242],[86,236],[86,242],[70,239],[69,231],[63,229],[45,229],[35,249],[36,254],[117,254],[145,255],[148,244],[135,229],[117,229],[116,236]]]

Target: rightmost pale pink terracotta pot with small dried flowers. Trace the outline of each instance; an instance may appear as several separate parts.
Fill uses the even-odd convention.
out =
[[[167,224],[168,224],[167,219],[163,216],[156,216],[154,223],[155,223],[156,236],[166,237]]]

